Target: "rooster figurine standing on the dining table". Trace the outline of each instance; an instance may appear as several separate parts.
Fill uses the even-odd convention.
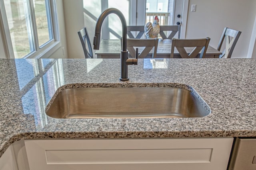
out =
[[[146,23],[144,27],[146,38],[157,38],[160,32],[159,19],[157,16],[154,18],[154,22]]]

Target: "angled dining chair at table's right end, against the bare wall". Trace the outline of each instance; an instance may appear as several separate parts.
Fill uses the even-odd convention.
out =
[[[222,51],[222,54],[220,55],[219,58],[231,58],[231,55],[241,33],[241,31],[230,29],[228,27],[224,28],[222,35],[220,37],[217,50],[220,51],[224,39],[226,39],[226,43],[225,49]]]

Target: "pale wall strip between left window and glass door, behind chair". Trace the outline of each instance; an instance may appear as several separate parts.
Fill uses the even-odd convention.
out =
[[[84,27],[83,1],[63,0],[68,58],[84,58],[77,32]]]

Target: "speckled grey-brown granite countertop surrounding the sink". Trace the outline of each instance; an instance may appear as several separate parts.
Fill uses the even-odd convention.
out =
[[[255,59],[139,59],[120,82],[119,59],[0,59],[0,156],[21,139],[256,137]],[[186,84],[212,113],[200,118],[55,119],[59,87]]]

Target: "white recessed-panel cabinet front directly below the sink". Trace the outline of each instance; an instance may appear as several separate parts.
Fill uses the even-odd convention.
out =
[[[224,170],[233,138],[26,140],[30,170]]]

